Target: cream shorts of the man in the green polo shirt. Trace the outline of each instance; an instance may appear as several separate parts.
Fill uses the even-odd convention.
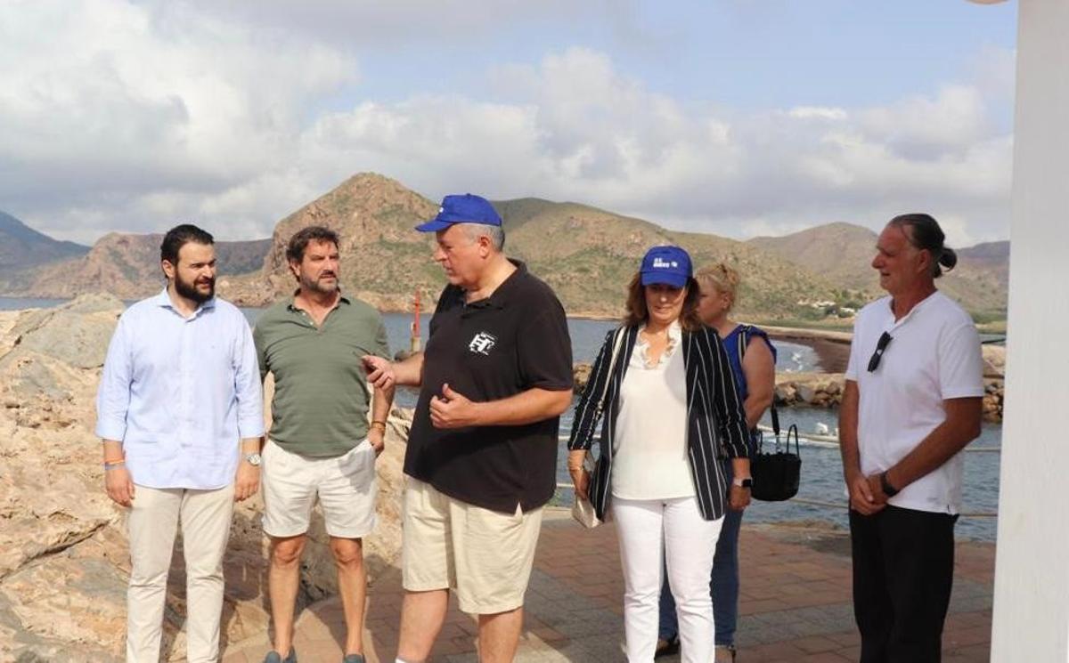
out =
[[[268,439],[261,482],[268,536],[308,532],[316,498],[330,536],[358,539],[375,528],[375,449],[367,440],[341,456],[311,458]]]

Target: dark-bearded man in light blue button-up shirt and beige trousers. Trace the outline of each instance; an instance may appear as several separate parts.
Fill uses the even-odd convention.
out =
[[[252,333],[215,299],[212,235],[171,228],[167,287],[123,313],[97,393],[108,496],[129,507],[127,663],[155,663],[179,522],[189,663],[219,659],[222,555],[235,500],[260,484],[263,395]]]

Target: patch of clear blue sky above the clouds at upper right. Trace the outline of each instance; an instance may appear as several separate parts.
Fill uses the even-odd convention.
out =
[[[583,45],[654,92],[740,110],[892,101],[970,78],[985,48],[1012,49],[1016,3],[964,0],[896,2],[624,2],[620,14],[578,21],[501,26],[468,44],[429,38],[416,52],[356,46],[365,90],[383,98],[427,92],[480,93],[487,62],[538,63]],[[418,69],[414,70],[414,64]]]

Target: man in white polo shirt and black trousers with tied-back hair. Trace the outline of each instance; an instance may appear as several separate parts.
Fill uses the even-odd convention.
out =
[[[890,220],[872,267],[889,294],[854,323],[839,413],[862,663],[940,661],[961,507],[980,432],[979,336],[935,289],[957,263],[935,219]]]

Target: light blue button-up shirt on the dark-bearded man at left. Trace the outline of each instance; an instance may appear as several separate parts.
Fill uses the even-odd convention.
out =
[[[242,438],[264,433],[252,332],[212,299],[186,318],[165,288],[119,318],[96,396],[96,435],[123,443],[134,483],[211,490],[234,482]]]

